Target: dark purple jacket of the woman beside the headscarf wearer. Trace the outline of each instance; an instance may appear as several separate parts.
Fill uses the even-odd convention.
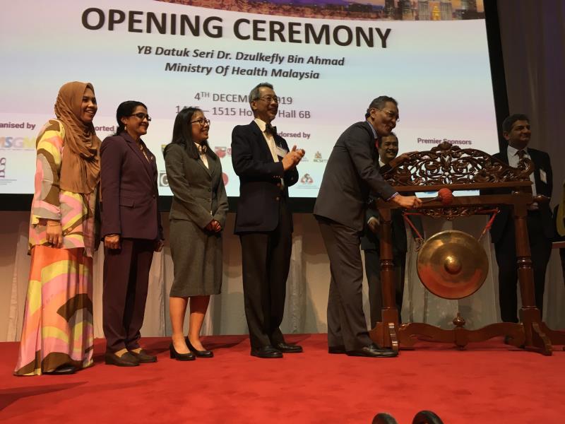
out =
[[[157,165],[148,148],[149,161],[125,131],[107,137],[100,146],[102,237],[163,238],[157,208]]]

